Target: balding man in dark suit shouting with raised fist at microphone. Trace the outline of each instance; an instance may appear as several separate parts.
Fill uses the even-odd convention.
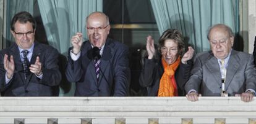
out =
[[[72,37],[66,70],[75,82],[75,96],[127,96],[130,69],[126,45],[108,38],[108,16],[93,12],[87,17],[88,41],[82,33]]]

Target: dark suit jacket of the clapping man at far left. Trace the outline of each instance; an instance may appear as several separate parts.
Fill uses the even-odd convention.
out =
[[[15,70],[11,81],[5,80],[6,70],[4,69],[4,54],[14,56]],[[39,79],[32,72],[25,80],[22,61],[17,44],[1,50],[0,52],[0,90],[4,96],[53,96],[53,87],[58,86],[61,81],[61,73],[58,66],[58,50],[35,42],[30,63],[34,64],[36,56],[40,56],[42,79]]]

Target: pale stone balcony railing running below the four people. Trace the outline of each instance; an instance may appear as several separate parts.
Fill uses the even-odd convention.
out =
[[[0,97],[1,124],[217,123],[218,119],[241,124],[255,123],[255,118],[256,101],[244,103],[239,97],[200,97],[197,102],[185,97]]]

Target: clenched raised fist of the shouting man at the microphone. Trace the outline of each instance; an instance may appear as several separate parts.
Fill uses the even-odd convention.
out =
[[[82,39],[83,39],[82,33],[77,33],[77,34],[75,34],[75,36],[72,36],[71,44],[73,45],[73,53],[74,54],[78,54],[80,52],[80,48],[83,43]]]

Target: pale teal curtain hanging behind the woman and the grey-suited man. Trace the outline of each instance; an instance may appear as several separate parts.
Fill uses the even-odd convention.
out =
[[[237,0],[151,0],[160,35],[168,28],[182,32],[195,52],[210,49],[208,28],[223,23],[239,31]]]

